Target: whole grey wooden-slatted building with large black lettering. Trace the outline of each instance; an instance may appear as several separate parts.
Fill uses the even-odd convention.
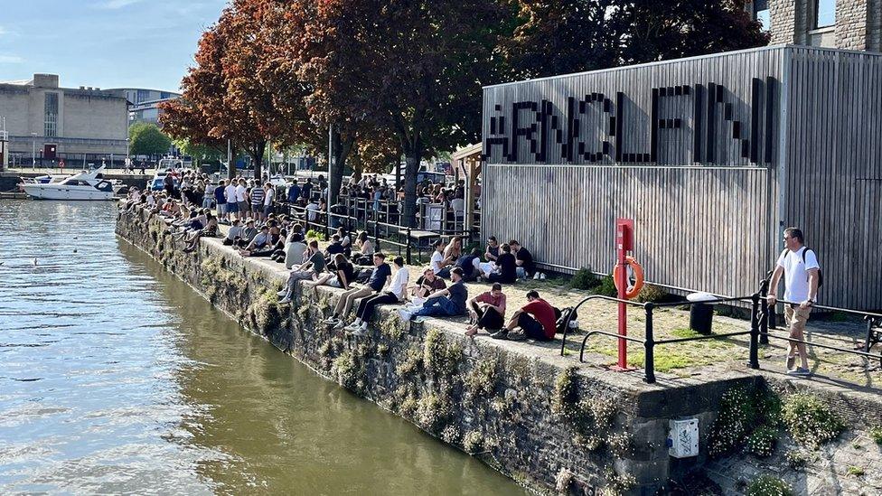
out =
[[[779,46],[483,90],[482,232],[541,266],[615,262],[749,295],[799,226],[821,304],[882,308],[882,54]]]

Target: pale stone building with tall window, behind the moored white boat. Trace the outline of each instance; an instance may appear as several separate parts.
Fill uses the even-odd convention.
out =
[[[99,89],[59,87],[58,76],[0,83],[0,117],[9,134],[9,164],[98,164],[127,153],[128,102]]]

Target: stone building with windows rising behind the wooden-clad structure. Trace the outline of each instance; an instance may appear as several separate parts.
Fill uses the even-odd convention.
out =
[[[882,51],[882,0],[755,0],[771,44]]]

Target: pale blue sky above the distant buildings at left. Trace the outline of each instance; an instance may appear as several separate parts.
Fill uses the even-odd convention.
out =
[[[176,91],[226,0],[2,0],[0,80]]]

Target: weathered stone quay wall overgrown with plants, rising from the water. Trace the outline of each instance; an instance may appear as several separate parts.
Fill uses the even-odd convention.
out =
[[[276,292],[286,271],[243,258],[220,239],[194,253],[146,212],[121,213],[117,234],[180,276],[212,304],[326,379],[479,457],[537,492],[652,494],[704,456],[674,461],[669,420],[699,418],[700,453],[719,398],[759,377],[688,387],[647,385],[525,342],[472,340],[461,323],[404,323],[380,307],[366,338],[322,324],[341,290]],[[675,463],[677,462],[677,463]]]

